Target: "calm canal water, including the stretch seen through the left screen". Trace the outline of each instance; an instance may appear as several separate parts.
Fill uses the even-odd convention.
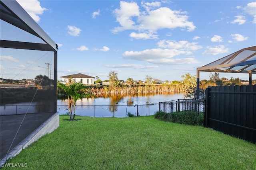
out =
[[[90,117],[126,117],[133,115],[153,115],[159,110],[159,102],[183,99],[182,93],[100,95],[96,98],[83,98],[76,102],[76,115]],[[1,106],[1,115],[24,113],[47,113],[53,109],[52,102],[22,102]],[[60,115],[68,113],[68,100],[58,99],[57,111]]]

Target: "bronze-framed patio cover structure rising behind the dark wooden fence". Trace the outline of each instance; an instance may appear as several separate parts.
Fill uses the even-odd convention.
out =
[[[230,72],[249,74],[249,84],[252,84],[252,74],[256,74],[256,46],[240,49],[226,57],[197,68],[196,86],[199,90],[199,74],[204,72]]]

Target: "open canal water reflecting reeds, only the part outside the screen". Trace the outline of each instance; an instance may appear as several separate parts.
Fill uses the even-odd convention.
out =
[[[90,117],[127,117],[133,115],[153,115],[159,109],[159,102],[184,99],[182,93],[102,95],[97,98],[83,98],[76,102],[76,115]],[[58,99],[60,115],[68,113],[68,100]]]

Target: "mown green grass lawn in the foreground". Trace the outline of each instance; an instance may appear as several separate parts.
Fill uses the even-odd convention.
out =
[[[33,170],[256,169],[255,144],[209,128],[154,115],[68,118],[60,115],[58,129],[7,163],[27,163]]]

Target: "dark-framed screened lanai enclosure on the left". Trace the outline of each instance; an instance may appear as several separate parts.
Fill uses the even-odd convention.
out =
[[[2,159],[56,113],[58,47],[15,0],[0,10]]]

